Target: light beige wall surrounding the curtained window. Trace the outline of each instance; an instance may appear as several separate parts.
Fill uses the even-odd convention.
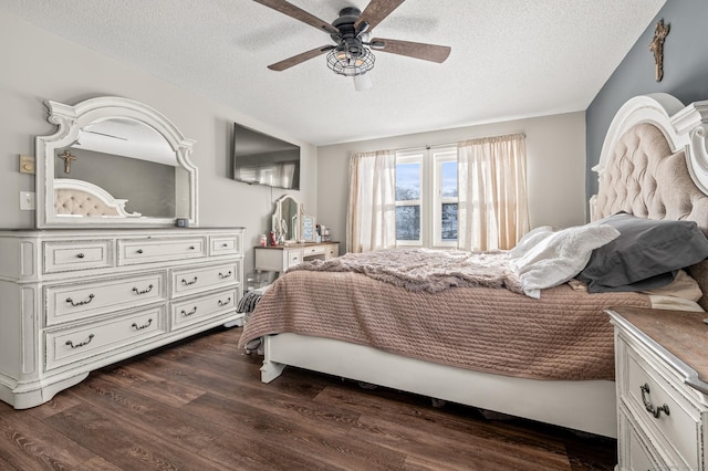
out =
[[[332,228],[333,240],[346,241],[348,157],[354,153],[404,149],[425,145],[524,133],[531,227],[585,223],[585,114],[568,113],[412,134],[317,148],[317,222]]]

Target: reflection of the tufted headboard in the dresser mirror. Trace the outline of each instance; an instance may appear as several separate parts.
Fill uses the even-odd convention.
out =
[[[58,178],[54,186],[56,216],[136,218],[139,212],[127,212],[127,199],[115,199],[103,188],[84,180]]]

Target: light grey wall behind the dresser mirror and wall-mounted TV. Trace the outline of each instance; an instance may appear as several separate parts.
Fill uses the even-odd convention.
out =
[[[285,130],[273,129],[3,12],[0,44],[0,228],[34,227],[34,211],[19,209],[20,190],[33,191],[34,176],[19,172],[18,156],[34,155],[34,137],[55,130],[46,121],[44,102],[75,104],[102,95],[143,102],[167,116],[185,136],[197,140],[191,160],[199,169],[200,226],[246,227],[247,270],[253,264],[250,248],[257,244],[259,233],[270,229],[272,202],[284,191],[228,178],[233,122],[302,146],[303,190],[291,193],[314,212],[316,148]]]

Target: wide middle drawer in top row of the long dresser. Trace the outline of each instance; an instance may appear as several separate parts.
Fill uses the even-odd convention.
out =
[[[200,259],[207,257],[207,238],[119,239],[118,265]]]

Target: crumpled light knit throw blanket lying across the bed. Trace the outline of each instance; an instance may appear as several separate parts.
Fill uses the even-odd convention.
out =
[[[506,287],[523,293],[521,281],[502,251],[462,252],[428,249],[385,249],[313,260],[289,271],[362,273],[408,291],[438,293],[449,287]]]

